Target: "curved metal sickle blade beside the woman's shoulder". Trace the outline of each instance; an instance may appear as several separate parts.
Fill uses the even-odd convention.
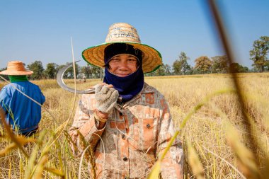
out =
[[[79,61],[76,61],[79,62]],[[66,91],[69,91],[71,93],[78,93],[78,94],[88,94],[88,93],[94,93],[95,88],[89,88],[87,90],[74,90],[73,88],[69,88],[63,80],[64,77],[64,72],[71,67],[73,64],[67,64],[65,67],[63,67],[62,69],[59,69],[58,73],[57,73],[57,83],[59,84],[59,86],[61,86],[61,88],[63,88]]]

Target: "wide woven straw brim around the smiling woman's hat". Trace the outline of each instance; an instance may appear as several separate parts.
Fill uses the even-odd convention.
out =
[[[158,52],[153,47],[150,47],[149,45],[144,45],[144,44],[135,43],[135,42],[110,42],[110,43],[104,43],[101,45],[89,47],[82,52],[82,57],[89,64],[93,64],[96,67],[103,68],[105,66],[105,63],[104,63],[105,47],[113,43],[126,43],[141,50],[143,52],[142,69],[143,69],[144,74],[147,74],[147,73],[155,71],[156,69],[159,69],[159,67],[162,64],[160,52]]]

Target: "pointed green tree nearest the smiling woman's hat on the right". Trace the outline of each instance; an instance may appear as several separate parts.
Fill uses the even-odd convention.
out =
[[[187,57],[185,52],[181,52],[181,54],[178,56],[178,59],[173,62],[174,74],[184,75],[190,70],[190,65],[187,62],[188,59],[190,59],[190,57]]]

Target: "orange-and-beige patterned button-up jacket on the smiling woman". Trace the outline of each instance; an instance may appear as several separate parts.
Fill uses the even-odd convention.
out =
[[[103,129],[98,129],[95,109],[94,94],[81,96],[69,129],[74,154],[79,156],[86,148],[80,132],[94,151],[97,178],[147,178],[175,132],[164,96],[144,83],[132,100],[115,106]],[[161,163],[161,177],[183,178],[183,149],[179,140]]]

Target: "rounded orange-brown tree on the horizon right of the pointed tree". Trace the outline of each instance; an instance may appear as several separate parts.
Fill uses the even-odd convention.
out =
[[[195,69],[202,74],[210,73],[212,68],[212,61],[207,56],[201,56],[195,59]]]

